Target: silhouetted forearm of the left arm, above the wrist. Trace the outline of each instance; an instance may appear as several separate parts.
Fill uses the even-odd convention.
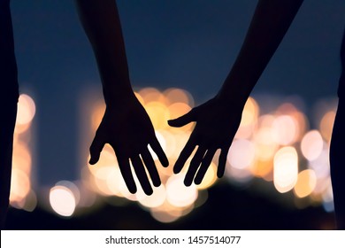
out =
[[[106,104],[132,96],[125,43],[115,0],[75,0],[95,53]]]

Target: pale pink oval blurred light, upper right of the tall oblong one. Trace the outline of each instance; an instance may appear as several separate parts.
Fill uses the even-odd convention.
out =
[[[324,141],[318,130],[311,130],[303,136],[301,151],[305,159],[318,159],[324,147]]]

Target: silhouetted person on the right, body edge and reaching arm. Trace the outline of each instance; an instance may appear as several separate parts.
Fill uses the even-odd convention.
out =
[[[303,0],[259,0],[234,66],[227,75],[217,96],[175,120],[172,127],[182,127],[196,121],[196,127],[177,159],[173,171],[180,173],[187,159],[197,146],[188,167],[184,183],[199,184],[215,152],[220,149],[217,175],[223,176],[226,156],[242,118],[242,110],[260,75],[288,31]],[[334,193],[334,209],[337,229],[345,229],[345,167],[343,147],[345,143],[345,37],[341,44],[341,79],[339,103],[334,121],[330,151],[331,178]],[[311,85],[311,87],[313,87]]]

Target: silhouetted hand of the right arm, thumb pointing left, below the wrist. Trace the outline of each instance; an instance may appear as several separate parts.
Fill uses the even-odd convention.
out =
[[[194,158],[191,160],[184,183],[190,186],[194,180],[196,184],[203,181],[215,152],[220,149],[217,175],[222,177],[226,167],[226,157],[234,135],[240,126],[242,105],[224,105],[219,98],[212,98],[203,105],[193,108],[180,118],[169,120],[172,127],[182,127],[196,121],[191,136],[188,139],[180,157],[177,159],[173,172],[180,173],[191,153],[198,146]]]

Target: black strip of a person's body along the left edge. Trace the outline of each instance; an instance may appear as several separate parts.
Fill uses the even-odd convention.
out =
[[[0,224],[3,229],[10,197],[13,132],[19,98],[10,0],[0,0],[0,87]]]

